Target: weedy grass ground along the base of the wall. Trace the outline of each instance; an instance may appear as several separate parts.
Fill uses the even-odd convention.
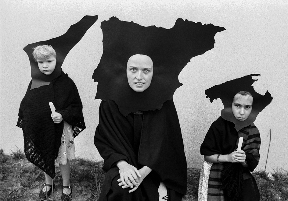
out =
[[[31,164],[19,149],[11,155],[5,155],[0,150],[0,200],[38,200],[39,189],[45,182],[43,171]],[[62,193],[62,177],[56,165],[56,189]],[[102,170],[103,161],[96,162],[83,158],[70,161],[71,177],[73,184],[73,197],[86,201],[97,201],[103,186],[105,172]],[[187,195],[183,201],[196,201],[198,199],[198,183],[200,169],[188,168]],[[265,171],[255,171],[261,201],[288,200],[288,171],[279,169],[272,174],[274,180],[267,177]],[[59,193],[53,194],[49,201],[59,200]],[[279,199],[281,198],[281,199]]]

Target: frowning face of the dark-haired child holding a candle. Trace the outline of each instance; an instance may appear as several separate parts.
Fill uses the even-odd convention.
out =
[[[236,94],[232,103],[232,112],[234,117],[243,122],[245,121],[252,110],[253,97],[241,94]]]

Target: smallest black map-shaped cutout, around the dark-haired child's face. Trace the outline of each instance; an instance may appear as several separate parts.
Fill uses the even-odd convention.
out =
[[[205,94],[207,95],[206,98],[210,98],[211,103],[217,98],[221,99],[224,105],[224,109],[221,111],[221,117],[227,121],[233,122],[237,131],[251,125],[256,120],[257,115],[268,104],[270,104],[273,99],[268,91],[266,91],[265,95],[262,96],[254,90],[252,84],[257,81],[257,79],[253,79],[252,76],[260,76],[260,74],[243,76],[238,79],[233,79],[231,81],[212,86],[211,88],[205,90]],[[243,122],[234,117],[231,108],[235,94],[240,91],[248,91],[253,97],[252,111],[249,117]]]

